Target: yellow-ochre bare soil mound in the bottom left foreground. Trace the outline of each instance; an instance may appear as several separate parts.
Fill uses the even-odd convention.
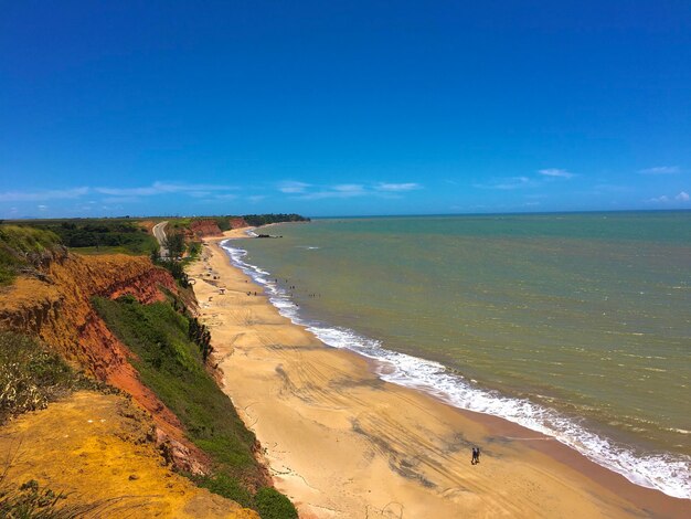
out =
[[[92,517],[258,518],[173,473],[155,435],[125,396],[82,391],[3,427],[6,485],[35,479],[65,505],[103,501]]]

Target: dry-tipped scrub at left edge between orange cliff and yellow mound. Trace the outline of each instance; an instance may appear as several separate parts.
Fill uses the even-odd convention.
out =
[[[77,389],[105,386],[76,373],[35,339],[0,332],[0,424],[10,416],[43,409]]]

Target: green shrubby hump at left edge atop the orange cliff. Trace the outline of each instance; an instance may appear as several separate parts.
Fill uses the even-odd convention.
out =
[[[60,247],[60,237],[49,231],[20,225],[0,225],[0,286],[10,285],[22,269],[35,268]]]

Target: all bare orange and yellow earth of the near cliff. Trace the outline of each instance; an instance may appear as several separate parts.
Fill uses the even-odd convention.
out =
[[[56,247],[0,287],[0,330],[35,338],[74,369],[116,391],[78,391],[2,425],[0,481],[38,481],[65,502],[99,505],[86,517],[258,518],[255,510],[178,474],[204,475],[210,459],[179,417],[132,367],[132,351],[108,329],[93,298],[139,304],[180,295],[148,257],[83,256]],[[188,296],[189,297],[189,296]],[[193,301],[190,301],[193,306]]]

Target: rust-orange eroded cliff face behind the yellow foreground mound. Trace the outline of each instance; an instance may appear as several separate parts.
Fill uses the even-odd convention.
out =
[[[94,296],[131,295],[140,303],[177,293],[170,274],[147,257],[64,254],[20,276],[0,294],[0,328],[39,337],[68,361],[127,392],[147,410],[157,438],[181,469],[202,474],[208,458],[187,441],[178,417],[141,383],[128,359],[134,354],[115,337],[91,304]]]

